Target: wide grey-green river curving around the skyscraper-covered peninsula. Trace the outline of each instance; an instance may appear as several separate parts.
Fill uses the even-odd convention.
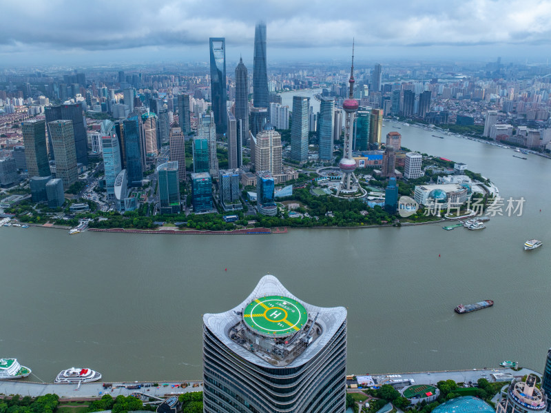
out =
[[[384,128],[384,133],[392,124]],[[289,230],[150,235],[0,228],[0,356],[39,379],[91,367],[105,381],[198,379],[202,314],[274,274],[306,302],[349,311],[351,373],[452,370],[503,360],[543,370],[551,345],[551,162],[400,125],[407,148],[468,164],[522,216],[486,230]],[[541,209],[541,212],[540,212]],[[544,243],[524,252],[526,239]],[[225,271],[227,268],[227,271]],[[495,300],[459,316],[459,303]],[[34,378],[36,379],[36,378]]]

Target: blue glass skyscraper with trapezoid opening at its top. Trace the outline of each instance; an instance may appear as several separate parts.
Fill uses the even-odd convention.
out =
[[[224,37],[211,37],[209,44],[211,52],[211,101],[214,112],[214,123],[216,123],[216,133],[225,134],[227,129],[226,39]]]

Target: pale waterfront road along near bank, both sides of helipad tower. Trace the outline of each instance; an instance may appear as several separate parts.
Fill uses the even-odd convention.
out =
[[[511,378],[521,377],[526,374],[534,373],[541,376],[538,372],[527,368],[514,371],[510,368],[499,369],[473,369],[473,370],[449,370],[444,372],[411,372],[395,374],[373,374],[371,377],[377,380],[377,385],[384,383],[400,383],[411,381],[415,384],[433,384],[438,381],[451,379],[457,383],[477,383],[478,379],[484,378],[488,381],[504,381],[506,376]],[[144,384],[145,382],[140,382]],[[63,399],[90,399],[98,398],[103,394],[111,394],[113,397],[123,394],[140,392],[156,397],[169,397],[174,394],[183,394],[187,392],[202,391],[201,381],[178,381],[178,382],[160,382],[157,387],[141,387],[141,389],[129,389],[128,386],[140,384],[137,382],[112,383],[111,388],[104,388],[103,383],[83,383],[78,384],[59,384],[59,383],[35,383],[30,381],[0,380],[0,395],[12,396],[19,394],[21,396],[38,397],[43,394],[57,394]],[[181,384],[187,383],[187,387],[182,388]],[[196,385],[196,387],[194,387]]]

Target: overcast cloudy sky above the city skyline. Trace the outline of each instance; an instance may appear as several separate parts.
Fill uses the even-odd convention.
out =
[[[551,57],[550,0],[0,0],[0,65],[208,61],[253,55],[267,22],[269,61]]]

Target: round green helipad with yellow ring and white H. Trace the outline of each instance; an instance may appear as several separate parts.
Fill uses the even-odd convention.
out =
[[[306,324],[308,314],[298,301],[267,296],[251,301],[243,312],[243,320],[265,336],[289,336]]]

